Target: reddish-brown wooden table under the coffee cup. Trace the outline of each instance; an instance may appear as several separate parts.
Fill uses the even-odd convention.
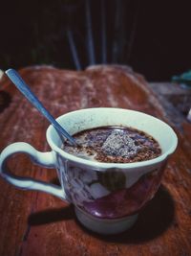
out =
[[[125,66],[93,66],[83,72],[34,66],[19,71],[54,117],[93,106],[141,110],[174,126],[147,82]],[[0,150],[25,141],[49,151],[48,122],[6,77],[0,87]],[[135,226],[101,236],[82,227],[73,206],[44,193],[21,191],[0,178],[0,256],[191,255],[191,125],[174,126],[179,147],[168,162],[156,197]],[[57,182],[54,170],[25,155],[10,160],[14,174]]]

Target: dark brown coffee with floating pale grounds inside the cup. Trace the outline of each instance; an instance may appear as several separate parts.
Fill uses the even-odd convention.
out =
[[[136,128],[91,128],[74,134],[79,147],[62,146],[77,157],[105,162],[131,163],[149,160],[161,154],[159,143]]]

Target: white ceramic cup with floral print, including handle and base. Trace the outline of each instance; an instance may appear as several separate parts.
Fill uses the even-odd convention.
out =
[[[158,191],[166,161],[176,150],[178,138],[173,129],[151,115],[112,107],[76,110],[57,121],[70,134],[105,126],[138,128],[159,142],[162,153],[155,159],[125,164],[82,159],[61,149],[60,138],[50,126],[47,141],[52,151],[36,151],[22,142],[11,144],[0,155],[1,176],[18,188],[47,192],[73,203],[77,219],[95,232],[115,234],[130,228]],[[29,154],[41,166],[55,168],[60,186],[11,175],[6,160],[17,152]]]

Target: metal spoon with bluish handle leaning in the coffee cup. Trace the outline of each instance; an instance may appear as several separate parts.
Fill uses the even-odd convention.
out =
[[[32,90],[27,85],[25,81],[20,77],[18,72],[16,72],[14,69],[8,69],[6,71],[6,75],[9,77],[9,79],[14,83],[14,85],[20,90],[22,94],[34,105],[38,111],[40,111],[41,114],[43,114],[49,122],[53,125],[53,127],[58,132],[60,138],[63,140],[64,136],[67,138],[72,145],[76,146],[76,142],[74,138],[64,129],[62,128],[53,118],[53,116],[50,114],[50,112],[41,104],[41,102],[37,99],[37,97],[32,93]]]

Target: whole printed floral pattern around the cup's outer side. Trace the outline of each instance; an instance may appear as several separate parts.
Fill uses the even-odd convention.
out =
[[[125,171],[99,172],[57,156],[61,183],[67,198],[89,214],[104,219],[132,215],[153,198],[159,188],[163,167],[141,175],[130,187]]]

